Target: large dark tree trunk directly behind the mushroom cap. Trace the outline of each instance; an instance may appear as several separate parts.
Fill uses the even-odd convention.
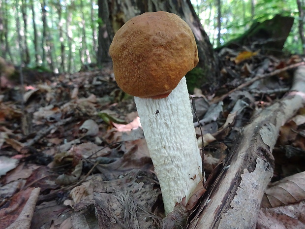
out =
[[[103,22],[106,24],[106,30],[109,34],[107,39],[112,38],[122,25],[134,16],[144,12],[167,11],[179,15],[191,28],[195,35],[198,46],[199,64],[203,69],[203,75],[209,82],[211,87],[215,86],[219,76],[218,60],[214,54],[213,47],[210,43],[208,35],[205,33],[198,16],[190,2],[190,0],[126,0],[125,4],[121,4],[119,0],[108,0],[108,5],[101,5],[102,0],[99,0],[99,7],[107,7],[109,15],[104,14]],[[132,7],[131,7],[132,6]],[[133,10],[130,10],[130,9]],[[99,43],[101,43],[102,36],[99,36]],[[107,44],[108,45],[108,44]],[[110,44],[109,44],[110,45]],[[107,47],[107,53],[109,46]],[[98,58],[100,55],[98,55]],[[200,85],[198,85],[200,86]]]

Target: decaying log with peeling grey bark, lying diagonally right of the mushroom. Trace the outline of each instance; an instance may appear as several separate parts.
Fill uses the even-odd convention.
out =
[[[279,128],[304,105],[305,66],[300,66],[291,91],[244,127],[188,229],[255,228],[263,193],[273,176],[272,151]]]

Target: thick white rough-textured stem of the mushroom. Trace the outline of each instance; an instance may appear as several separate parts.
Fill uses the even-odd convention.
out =
[[[167,214],[184,196],[187,202],[202,180],[202,160],[185,77],[166,98],[134,100]]]

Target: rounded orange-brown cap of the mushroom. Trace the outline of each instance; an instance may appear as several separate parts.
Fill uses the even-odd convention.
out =
[[[127,21],[115,34],[109,52],[119,87],[141,98],[166,97],[198,64],[191,29],[176,14],[163,11]]]

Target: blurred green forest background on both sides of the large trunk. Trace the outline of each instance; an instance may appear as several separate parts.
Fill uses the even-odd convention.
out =
[[[103,4],[107,3],[107,0],[0,0],[0,56],[13,65],[55,73],[76,72],[92,63],[101,65],[109,61],[109,44],[102,41],[109,26],[103,20]],[[304,0],[191,3],[214,48],[243,34],[253,22],[281,14],[295,18],[284,51],[305,52]]]

